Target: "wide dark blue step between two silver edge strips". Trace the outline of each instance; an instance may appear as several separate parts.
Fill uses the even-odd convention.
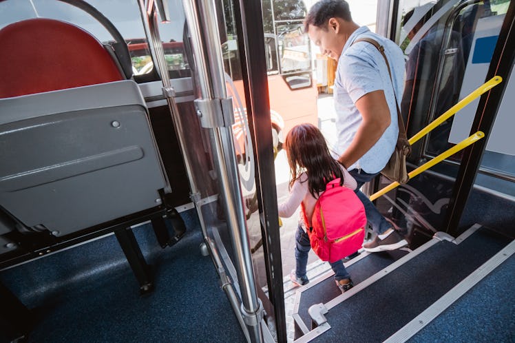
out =
[[[310,338],[313,342],[336,342],[341,337],[351,342],[386,340],[511,241],[478,227],[456,240],[433,238],[325,302],[320,307],[328,311],[324,326],[330,329]]]

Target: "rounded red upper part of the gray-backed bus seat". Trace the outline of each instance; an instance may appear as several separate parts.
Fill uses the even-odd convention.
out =
[[[0,98],[125,79],[100,42],[63,21],[12,23],[0,46]]]

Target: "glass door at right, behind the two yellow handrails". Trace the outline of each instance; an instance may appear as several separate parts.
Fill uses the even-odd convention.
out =
[[[484,143],[450,156],[379,200],[383,211],[410,233],[414,247],[436,231],[457,236],[476,222],[504,231],[514,221],[509,128],[515,122],[507,110],[513,100],[502,96],[514,92],[514,47],[507,41],[513,23],[510,6],[512,1],[403,1],[395,11],[399,23],[391,37],[406,56],[401,112],[408,138],[492,73],[503,77],[497,90],[490,91],[501,96],[485,93],[415,143],[410,166],[422,165],[479,129],[485,130]]]

